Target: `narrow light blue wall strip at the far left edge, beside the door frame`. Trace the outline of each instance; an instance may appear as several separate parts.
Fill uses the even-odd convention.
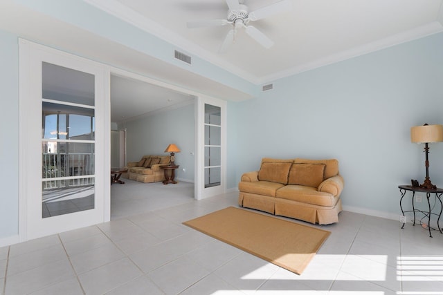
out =
[[[19,51],[15,35],[0,30],[0,239],[19,227]]]

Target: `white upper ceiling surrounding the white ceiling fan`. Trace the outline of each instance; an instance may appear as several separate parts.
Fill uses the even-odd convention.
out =
[[[243,1],[243,0],[240,0]],[[249,11],[280,0],[244,0]],[[290,0],[292,9],[249,23],[275,45],[262,48],[239,30],[217,53],[230,26],[187,28],[187,21],[226,19],[225,0],[87,0],[154,35],[256,84],[442,31],[441,0]]]

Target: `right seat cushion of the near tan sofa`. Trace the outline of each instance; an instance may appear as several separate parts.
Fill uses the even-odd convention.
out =
[[[288,184],[287,186],[278,189],[275,196],[276,198],[318,206],[334,206],[337,202],[336,198],[334,198],[331,193],[317,191],[314,187],[305,187],[303,185]]]

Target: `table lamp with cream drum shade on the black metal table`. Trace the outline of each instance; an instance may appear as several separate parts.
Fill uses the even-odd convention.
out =
[[[437,189],[437,186],[432,184],[431,178],[429,178],[428,143],[443,142],[443,125],[424,124],[423,126],[411,127],[410,141],[424,143],[424,154],[426,156],[424,166],[426,166],[426,178],[424,179],[423,184],[420,184],[420,187],[422,189]]]

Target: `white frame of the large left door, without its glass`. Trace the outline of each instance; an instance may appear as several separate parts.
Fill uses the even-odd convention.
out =
[[[110,218],[109,70],[102,64],[19,39],[19,240],[25,241],[86,227]],[[95,73],[95,204],[94,209],[42,218],[42,61]],[[38,69],[40,72],[35,72]],[[38,143],[38,144],[37,144]],[[36,145],[37,144],[37,145]],[[31,171],[30,171],[31,170]],[[39,199],[37,199],[40,196]],[[40,203],[40,205],[35,205]],[[37,220],[37,222],[35,222]]]

